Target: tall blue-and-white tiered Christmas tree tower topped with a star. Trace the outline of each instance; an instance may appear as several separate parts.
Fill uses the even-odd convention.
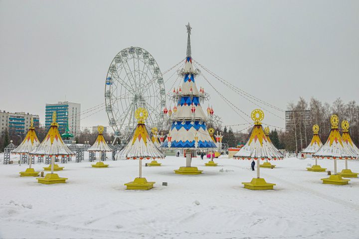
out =
[[[191,27],[188,23],[187,28],[187,55],[184,68],[180,74],[183,77],[182,86],[174,93],[174,100],[177,102],[172,115],[172,126],[169,135],[161,147],[183,149],[186,154],[186,166],[175,170],[177,174],[201,174],[202,171],[197,167],[191,167],[192,150],[213,149],[215,143],[209,136],[206,121],[200,102],[204,101],[204,91],[198,91],[195,84],[195,77],[199,70],[194,70],[192,66],[190,33]],[[167,111],[167,109],[165,109]],[[166,114],[166,112],[165,112]]]

